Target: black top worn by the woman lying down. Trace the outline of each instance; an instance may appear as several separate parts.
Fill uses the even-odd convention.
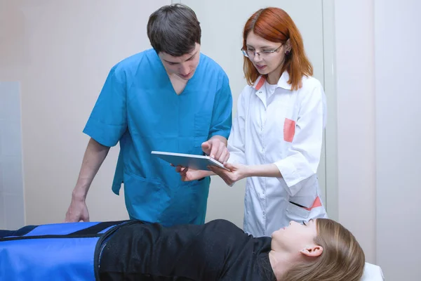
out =
[[[132,224],[118,230],[100,258],[100,280],[275,280],[271,238],[255,238],[225,220],[163,228]]]

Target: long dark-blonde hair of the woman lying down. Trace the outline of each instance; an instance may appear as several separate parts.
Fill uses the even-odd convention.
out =
[[[328,218],[317,218],[314,242],[323,247],[316,258],[293,266],[282,281],[359,281],[363,275],[363,249],[347,228]]]

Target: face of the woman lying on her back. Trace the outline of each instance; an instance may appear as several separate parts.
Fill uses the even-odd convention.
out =
[[[291,221],[288,227],[272,233],[272,250],[299,254],[300,250],[314,245],[316,236],[316,220],[310,220],[305,224]]]

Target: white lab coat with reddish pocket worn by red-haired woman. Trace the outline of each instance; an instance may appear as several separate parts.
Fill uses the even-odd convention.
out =
[[[246,86],[228,139],[228,162],[273,163],[282,175],[247,178],[244,231],[255,237],[270,236],[290,221],[327,217],[316,176],[326,126],[325,94],[313,77],[303,77],[298,91],[291,91],[288,79],[284,72],[268,96],[262,76]]]

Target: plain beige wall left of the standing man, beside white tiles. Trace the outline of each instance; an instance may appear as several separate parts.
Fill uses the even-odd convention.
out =
[[[150,47],[147,19],[170,3],[1,1],[0,81],[21,82],[26,223],[64,220],[88,141],[81,131],[107,72]],[[91,186],[92,220],[128,218],[123,196],[110,190],[117,153]]]

